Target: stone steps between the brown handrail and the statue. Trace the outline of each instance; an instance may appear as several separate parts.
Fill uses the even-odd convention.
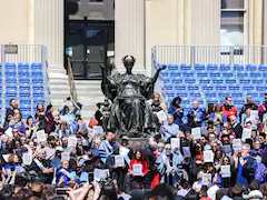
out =
[[[100,80],[76,80],[78,101],[83,104],[81,117],[88,121],[95,116],[97,103],[103,102]]]

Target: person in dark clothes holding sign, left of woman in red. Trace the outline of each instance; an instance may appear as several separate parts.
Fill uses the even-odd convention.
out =
[[[110,178],[116,180],[121,192],[126,191],[126,174],[128,172],[128,164],[125,157],[120,156],[120,148],[113,147],[113,153],[107,158],[107,166],[109,168]]]

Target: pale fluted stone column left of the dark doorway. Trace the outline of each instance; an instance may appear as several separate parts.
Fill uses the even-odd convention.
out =
[[[63,0],[34,0],[34,43],[48,49],[49,68],[63,68]]]

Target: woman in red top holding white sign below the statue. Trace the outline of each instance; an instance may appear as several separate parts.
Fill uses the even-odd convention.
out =
[[[141,164],[141,174],[139,174],[139,168],[135,164]],[[139,167],[138,166],[138,167]],[[135,158],[130,161],[129,173],[131,176],[131,183],[137,183],[144,188],[146,174],[148,173],[148,163],[145,158],[145,154],[140,149],[136,150]],[[138,174],[138,176],[137,176]]]

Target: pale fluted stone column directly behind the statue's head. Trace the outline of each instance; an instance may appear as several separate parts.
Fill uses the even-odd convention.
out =
[[[116,68],[125,72],[122,57],[136,58],[135,72],[145,72],[145,0],[115,1]]]

